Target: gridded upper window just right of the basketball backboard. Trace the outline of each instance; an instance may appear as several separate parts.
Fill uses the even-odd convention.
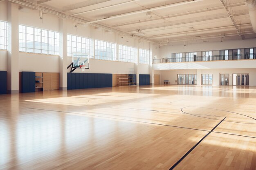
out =
[[[115,43],[95,40],[95,59],[114,61],[116,50],[117,46]]]

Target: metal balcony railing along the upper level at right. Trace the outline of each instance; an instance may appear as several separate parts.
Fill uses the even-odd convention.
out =
[[[212,55],[212,56],[185,56],[176,58],[161,58],[154,59],[153,64],[156,63],[170,63],[170,62],[204,62],[204,61],[228,61],[228,60],[250,60],[256,59],[256,53],[238,54],[238,55]]]

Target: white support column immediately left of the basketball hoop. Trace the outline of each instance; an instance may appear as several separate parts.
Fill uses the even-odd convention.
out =
[[[67,90],[67,20],[59,19],[60,30],[60,56],[59,56],[59,72],[60,72],[60,90]]]

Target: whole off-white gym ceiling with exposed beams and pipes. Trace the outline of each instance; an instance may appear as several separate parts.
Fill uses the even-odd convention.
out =
[[[232,22],[221,1],[227,5]],[[161,44],[255,38],[245,0],[34,0],[76,18]],[[236,26],[238,30],[236,29]],[[239,36],[240,35],[243,36]]]

